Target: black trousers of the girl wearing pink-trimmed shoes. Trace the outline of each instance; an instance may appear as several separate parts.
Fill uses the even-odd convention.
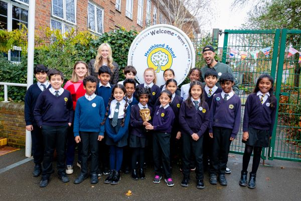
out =
[[[166,178],[170,178],[172,176],[170,163],[170,139],[170,133],[153,133],[153,156],[155,174],[162,176],[162,164]]]

